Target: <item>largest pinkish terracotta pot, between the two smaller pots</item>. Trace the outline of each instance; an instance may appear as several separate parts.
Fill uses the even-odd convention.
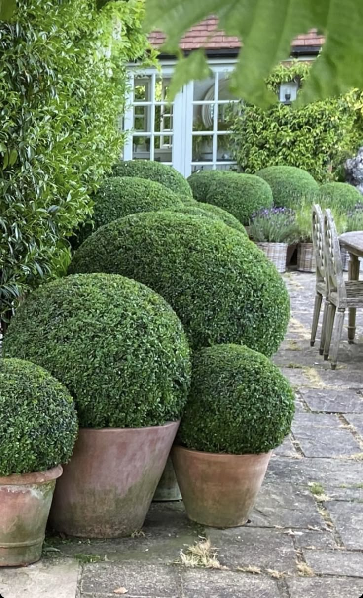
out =
[[[80,429],[56,486],[51,527],[81,538],[120,538],[141,529],[178,426]]]

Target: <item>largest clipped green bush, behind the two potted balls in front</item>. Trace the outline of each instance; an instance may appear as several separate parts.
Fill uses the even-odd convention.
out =
[[[70,272],[124,274],[176,310],[193,349],[244,343],[272,355],[287,327],[288,294],[276,269],[238,231],[209,218],[149,212],[99,228]]]

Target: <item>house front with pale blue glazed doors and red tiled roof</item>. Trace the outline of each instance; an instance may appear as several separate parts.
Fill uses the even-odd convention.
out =
[[[165,36],[153,32],[150,41],[159,49]],[[288,60],[313,60],[323,42],[324,38],[315,31],[299,35],[293,41]],[[124,120],[129,132],[125,160],[160,161],[174,166],[186,177],[195,170],[228,170],[235,164],[229,152],[226,108],[238,101],[229,91],[229,77],[241,43],[220,32],[217,19],[211,17],[193,27],[180,42],[186,54],[201,46],[207,51],[210,77],[190,81],[171,104],[167,102],[167,91],[175,57],[159,54],[159,71],[130,66],[130,94]],[[279,99],[290,102],[296,92],[296,83],[291,81],[281,86]]]

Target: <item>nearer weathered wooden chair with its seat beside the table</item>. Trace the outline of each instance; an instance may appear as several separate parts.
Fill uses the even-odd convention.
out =
[[[328,313],[325,321],[324,359],[328,359],[331,337],[334,341],[331,356],[331,368],[337,367],[340,338],[342,337],[344,313],[349,307],[363,307],[363,282],[343,279],[342,256],[333,215],[330,210],[324,212],[324,256],[325,276],[328,286]]]

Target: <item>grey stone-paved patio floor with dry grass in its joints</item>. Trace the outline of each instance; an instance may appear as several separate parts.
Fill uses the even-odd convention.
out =
[[[357,344],[344,335],[331,371],[318,346],[310,347],[315,277],[291,272],[285,280],[292,315],[275,362],[296,389],[297,410],[250,523],[204,529],[181,502],[153,504],[134,538],[49,536],[41,563],[0,570],[5,598],[361,597],[363,321],[358,312]],[[210,538],[221,569],[178,564],[180,550],[200,538]]]

